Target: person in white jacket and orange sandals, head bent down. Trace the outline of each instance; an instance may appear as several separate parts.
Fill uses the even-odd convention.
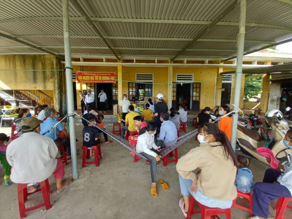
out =
[[[150,173],[151,173],[151,195],[156,198],[158,196],[156,190],[156,165],[160,161],[160,146],[156,146],[154,143],[154,134],[156,133],[156,124],[150,122],[147,127],[142,128],[139,132],[136,151],[146,157],[150,162]]]

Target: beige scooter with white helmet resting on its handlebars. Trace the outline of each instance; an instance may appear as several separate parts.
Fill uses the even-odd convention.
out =
[[[287,108],[286,110],[289,111],[289,109]],[[274,136],[268,148],[273,152],[275,158],[280,161],[280,164],[286,164],[288,162],[287,154],[292,152],[292,149],[287,148],[283,144],[284,136],[289,130],[288,123],[283,117],[282,112],[279,110],[270,110],[265,114],[265,118],[271,120],[270,125]],[[256,152],[258,143],[261,140],[262,137],[258,131],[241,126],[237,127],[237,146],[239,146],[240,150],[248,156],[269,164],[265,156]]]

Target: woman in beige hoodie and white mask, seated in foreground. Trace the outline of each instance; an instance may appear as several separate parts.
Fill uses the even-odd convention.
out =
[[[212,123],[198,128],[199,147],[191,149],[176,165],[183,198],[179,206],[186,217],[190,195],[211,208],[230,208],[237,197],[234,185],[237,157],[224,132]],[[192,171],[200,168],[201,174]]]

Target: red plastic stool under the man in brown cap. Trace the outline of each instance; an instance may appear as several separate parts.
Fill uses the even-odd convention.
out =
[[[29,208],[25,208],[25,201],[27,200],[27,196],[29,196],[33,193],[27,193],[27,187],[30,185],[33,185],[33,183],[31,183],[31,184],[18,184],[17,191],[18,191],[18,207],[19,207],[20,218],[25,218],[25,212],[35,210],[35,209],[40,208],[42,206],[45,206],[47,210],[49,210],[52,207],[51,202],[50,202],[51,188],[50,188],[49,180],[46,179],[46,180],[44,180],[40,183],[37,183],[37,184],[40,184],[40,189],[37,189],[37,191],[35,191],[33,193],[41,191],[42,197],[43,197],[43,202],[40,204],[37,204],[35,206],[29,207]]]

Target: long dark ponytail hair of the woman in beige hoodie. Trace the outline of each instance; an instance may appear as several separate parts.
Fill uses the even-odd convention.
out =
[[[233,150],[227,138],[227,135],[223,131],[219,130],[219,128],[213,123],[204,123],[198,128],[198,132],[206,132],[207,134],[212,134],[216,141],[221,143],[221,145],[218,146],[223,146],[226,157],[228,159],[232,159],[233,164],[238,168],[235,151]]]

